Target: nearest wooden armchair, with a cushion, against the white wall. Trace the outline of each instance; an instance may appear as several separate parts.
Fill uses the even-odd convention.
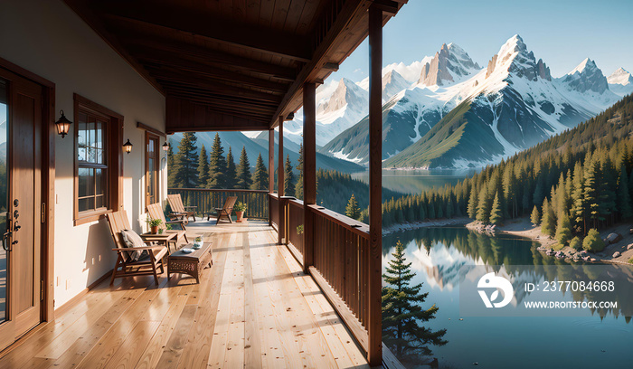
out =
[[[163,258],[169,253],[169,249],[165,245],[151,245],[146,243],[146,247],[135,247],[130,249],[126,246],[121,236],[121,231],[131,230],[129,226],[128,214],[125,210],[118,211],[116,213],[106,214],[108,219],[110,234],[112,240],[117,246],[112,251],[117,251],[117,264],[112,270],[112,278],[110,279],[110,286],[114,283],[114,279],[123,277],[136,277],[136,276],[148,276],[154,275],[154,281],[158,284],[158,272],[160,268],[160,274],[165,272],[163,266]],[[139,260],[131,260],[128,256],[128,251],[147,251],[147,254]]]

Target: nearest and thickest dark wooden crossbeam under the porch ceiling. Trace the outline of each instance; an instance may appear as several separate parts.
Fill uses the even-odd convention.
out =
[[[178,6],[142,4],[142,2],[100,2],[99,10],[109,19],[155,25],[173,33],[202,36],[218,43],[254,52],[264,52],[296,61],[307,62],[312,51],[309,40],[291,33],[241,24],[230,19],[187,11]]]

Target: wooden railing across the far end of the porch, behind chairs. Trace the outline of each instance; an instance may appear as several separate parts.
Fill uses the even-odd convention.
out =
[[[227,197],[237,196],[237,201],[248,206],[247,218],[269,218],[268,191],[265,190],[168,188],[167,194],[180,194],[185,206],[197,206],[196,213],[213,212],[214,208],[222,207]]]

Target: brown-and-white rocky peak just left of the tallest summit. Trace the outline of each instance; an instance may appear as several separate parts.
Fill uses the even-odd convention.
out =
[[[418,83],[426,86],[443,86],[469,76],[479,69],[479,65],[458,45],[444,43],[433,59],[422,67]]]

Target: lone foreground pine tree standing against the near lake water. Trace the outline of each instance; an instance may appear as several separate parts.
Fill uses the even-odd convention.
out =
[[[419,323],[435,318],[438,307],[423,310],[429,293],[420,293],[422,284],[410,286],[415,273],[411,262],[406,262],[404,246],[396,243],[393,260],[383,274],[383,341],[403,361],[415,362],[420,355],[431,355],[430,345],[446,345],[446,329],[433,331]]]

